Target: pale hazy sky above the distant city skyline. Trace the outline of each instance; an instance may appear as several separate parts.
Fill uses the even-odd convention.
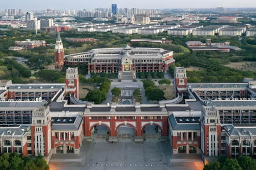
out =
[[[1,2],[2,1],[2,2]],[[255,0],[1,0],[0,11],[4,9],[46,10],[52,9],[95,9],[109,8],[111,4],[117,4],[117,8],[244,8],[256,7]]]

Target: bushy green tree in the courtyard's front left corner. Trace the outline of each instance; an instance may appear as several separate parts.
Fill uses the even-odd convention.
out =
[[[99,89],[94,89],[89,91],[85,97],[85,100],[92,101],[94,104],[101,104],[104,100],[107,99],[107,93]]]

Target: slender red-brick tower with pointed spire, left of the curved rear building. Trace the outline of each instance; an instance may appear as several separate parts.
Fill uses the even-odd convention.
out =
[[[55,49],[54,49],[54,66],[55,69],[62,69],[64,65],[64,49],[62,44],[61,35],[57,34],[57,39],[55,43]]]

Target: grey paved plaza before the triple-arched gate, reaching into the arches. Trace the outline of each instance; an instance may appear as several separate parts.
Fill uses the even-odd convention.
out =
[[[92,141],[83,141],[80,154],[55,154],[50,168],[72,170],[202,169],[199,155],[172,154],[170,141],[160,141],[154,126],[147,126],[143,144],[134,144],[132,127],[118,128],[118,143],[108,143],[108,129],[97,126]],[[171,161],[170,161],[171,160]]]

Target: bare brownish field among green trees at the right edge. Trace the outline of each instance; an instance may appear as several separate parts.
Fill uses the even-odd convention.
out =
[[[230,68],[238,69],[241,71],[256,71],[256,62],[255,61],[244,61],[238,63],[229,63],[224,65]]]

